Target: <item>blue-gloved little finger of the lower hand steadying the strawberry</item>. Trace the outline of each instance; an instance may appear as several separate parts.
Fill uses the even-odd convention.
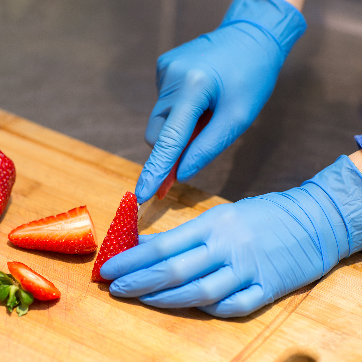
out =
[[[198,309],[220,318],[242,317],[265,306],[266,302],[262,287],[253,284],[218,303]]]

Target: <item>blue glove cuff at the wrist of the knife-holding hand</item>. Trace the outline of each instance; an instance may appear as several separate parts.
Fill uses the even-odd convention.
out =
[[[284,57],[307,28],[302,13],[284,0],[234,0],[220,28],[240,22],[268,31]]]

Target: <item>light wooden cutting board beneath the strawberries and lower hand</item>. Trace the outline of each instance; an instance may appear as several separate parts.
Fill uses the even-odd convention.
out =
[[[222,320],[195,308],[161,310],[114,298],[108,286],[90,282],[96,253],[26,251],[7,235],[27,221],[87,205],[101,242],[142,167],[1,110],[0,150],[17,171],[0,219],[0,270],[24,262],[62,292],[59,301],[35,301],[21,318],[0,306],[1,361],[362,361],[360,253],[248,317]],[[226,202],[174,185],[152,204],[140,232],[169,230]]]

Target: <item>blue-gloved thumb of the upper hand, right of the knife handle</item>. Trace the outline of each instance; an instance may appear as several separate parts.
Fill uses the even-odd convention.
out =
[[[229,147],[250,126],[248,117],[238,108],[216,106],[209,124],[181,157],[177,180],[186,182]]]

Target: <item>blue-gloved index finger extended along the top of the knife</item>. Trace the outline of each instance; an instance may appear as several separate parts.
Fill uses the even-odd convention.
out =
[[[136,184],[137,202],[150,199],[159,189],[188,143],[201,114],[209,107],[215,88],[205,72],[189,71],[180,96],[165,121]]]

